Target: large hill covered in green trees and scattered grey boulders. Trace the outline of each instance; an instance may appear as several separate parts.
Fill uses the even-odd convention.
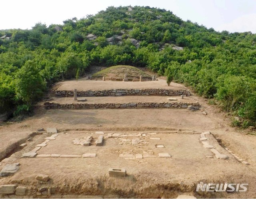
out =
[[[251,32],[216,32],[168,10],[120,6],[49,27],[0,30],[2,36],[0,112],[28,112],[54,82],[82,76],[88,66],[130,65],[171,74],[237,116],[234,125],[255,125],[256,35]]]

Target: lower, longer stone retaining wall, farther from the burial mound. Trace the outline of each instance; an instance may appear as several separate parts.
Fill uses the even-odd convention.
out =
[[[199,103],[181,102],[138,102],[138,103],[54,103],[45,102],[46,109],[98,109],[98,108],[188,108],[199,107]]]

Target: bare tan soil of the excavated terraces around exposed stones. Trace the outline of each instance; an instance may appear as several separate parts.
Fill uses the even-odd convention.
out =
[[[168,87],[164,80],[152,82],[103,82],[92,80],[66,81],[55,85],[54,90],[104,90],[110,88],[168,88],[186,89],[172,83]],[[143,97],[143,98],[142,98]],[[96,97],[97,98],[97,97]],[[89,98],[98,101],[158,101],[168,97],[131,96]],[[174,96],[174,98],[180,98]],[[113,100],[112,100],[113,99]],[[54,187],[51,197],[83,197],[84,195],[103,195],[104,197],[141,197],[141,198],[176,198],[180,194],[195,197],[253,198],[256,195],[256,137],[246,135],[230,127],[230,121],[207,100],[192,93],[184,99],[199,101],[199,111],[187,109],[89,109],[89,110],[45,110],[43,102],[38,103],[35,114],[19,123],[0,126],[0,155],[9,157],[0,164],[0,169],[10,162],[19,162],[20,169],[15,175],[1,177],[0,185],[16,183],[31,189]],[[65,101],[72,98],[58,98]],[[180,99],[179,99],[180,101]],[[206,111],[208,114],[202,114]],[[38,154],[74,154],[96,153],[94,158],[20,158],[24,152],[31,151],[42,143],[49,134],[30,135],[39,128],[56,127],[58,137],[42,147]],[[95,131],[107,133],[145,133],[139,137],[146,144],[121,144],[121,139],[108,138],[104,145],[89,147],[74,145],[73,139],[93,135]],[[229,159],[208,158],[214,156],[210,149],[203,147],[200,133],[210,131],[209,144]],[[157,134],[149,134],[157,133]],[[32,137],[32,141],[26,141]],[[152,140],[150,137],[159,137]],[[138,137],[136,137],[138,138]],[[217,141],[218,140],[218,141]],[[26,142],[24,149],[6,153],[14,143]],[[156,148],[156,144],[164,148]],[[245,165],[237,161],[224,147],[228,147],[241,159],[250,163]],[[143,151],[169,153],[170,158],[151,157],[143,159],[125,159],[122,153],[143,154]],[[15,152],[15,153],[14,153]],[[12,154],[12,155],[11,155]],[[3,159],[3,157],[1,158]],[[108,176],[108,168],[126,168],[128,176],[115,178]],[[38,173],[50,175],[50,181],[39,183]],[[198,182],[211,183],[248,183],[246,192],[195,192]],[[62,194],[62,195],[61,195]],[[39,197],[39,196],[37,196]]]

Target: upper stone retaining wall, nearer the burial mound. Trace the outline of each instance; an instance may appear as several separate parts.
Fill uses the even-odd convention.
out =
[[[74,91],[62,90],[55,93],[59,97],[73,97]],[[190,96],[188,90],[174,89],[112,89],[101,91],[77,91],[77,96],[80,97],[95,97],[95,96]]]

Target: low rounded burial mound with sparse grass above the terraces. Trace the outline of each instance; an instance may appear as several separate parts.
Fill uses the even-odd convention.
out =
[[[146,74],[144,71],[133,66],[124,65],[111,66],[93,74],[92,77],[100,79],[102,79],[102,77],[106,77],[106,80],[122,81],[124,79],[124,74],[127,74],[126,77],[129,81],[139,81],[140,76],[142,76],[144,81],[152,80],[152,77]]]

